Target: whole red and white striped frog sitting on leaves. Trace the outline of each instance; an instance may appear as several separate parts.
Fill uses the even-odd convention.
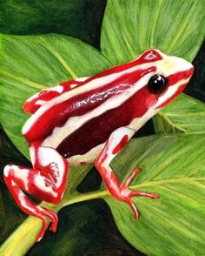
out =
[[[94,162],[109,193],[128,203],[135,219],[138,212],[132,197],[159,198],[129,190],[139,168],[120,184],[109,164],[149,118],[183,91],[193,71],[192,64],[180,57],[149,50],[132,62],[58,84],[25,102],[23,109],[32,116],[23,126],[23,136],[29,142],[33,168],[7,165],[3,175],[23,212],[43,220],[37,241],[47,229],[46,217],[53,232],[58,219],[24,192],[58,204],[66,190],[69,165]]]

